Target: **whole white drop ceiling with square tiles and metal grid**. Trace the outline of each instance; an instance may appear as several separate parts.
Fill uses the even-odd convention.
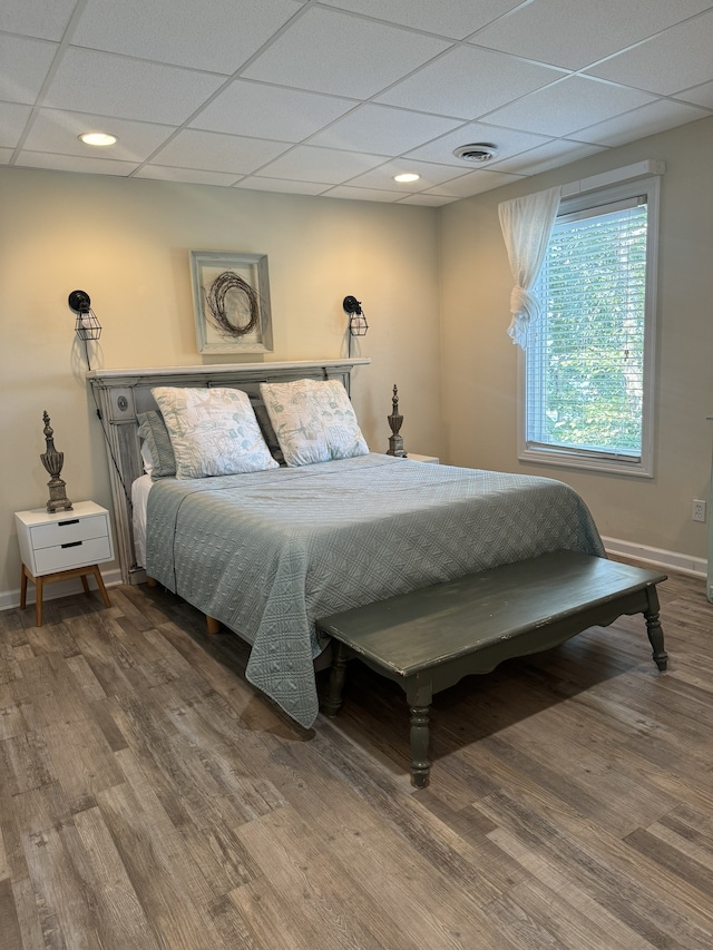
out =
[[[710,117],[712,53],[707,0],[3,0],[0,164],[437,207]]]

